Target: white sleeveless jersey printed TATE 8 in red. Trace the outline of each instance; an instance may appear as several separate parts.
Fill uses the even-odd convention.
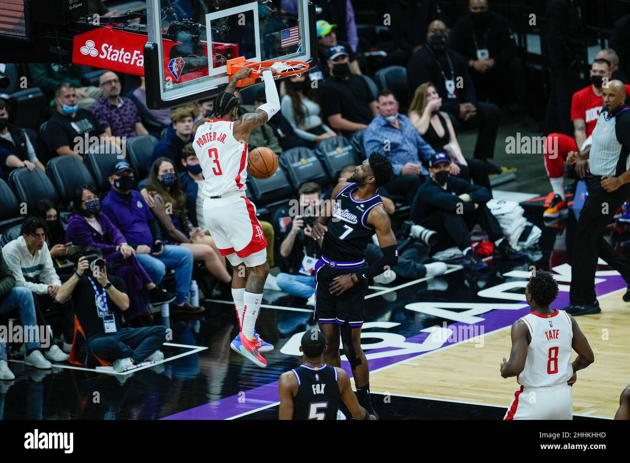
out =
[[[566,384],[573,375],[573,328],[564,311],[551,315],[530,312],[520,318],[527,325],[532,341],[527,347],[525,369],[518,375],[518,384],[545,387]]]

